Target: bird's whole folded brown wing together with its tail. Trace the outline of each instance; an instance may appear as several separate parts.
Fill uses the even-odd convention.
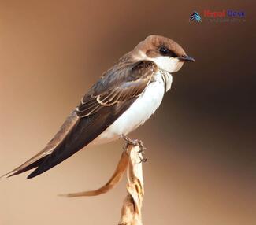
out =
[[[61,127],[62,131],[51,141],[54,144],[13,170],[12,175],[36,168],[28,175],[30,179],[87,146],[143,93],[155,69],[152,61],[133,63],[121,58],[83,97],[76,112],[69,116],[68,122]]]

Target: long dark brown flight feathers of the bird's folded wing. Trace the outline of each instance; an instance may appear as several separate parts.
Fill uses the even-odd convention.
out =
[[[46,172],[71,157],[84,146],[87,146],[87,144],[105,131],[109,125],[113,124],[130,107],[133,101],[135,101],[135,98],[131,98],[125,104],[102,107],[97,113],[76,120],[76,123],[72,125],[72,129],[65,135],[65,138],[61,140],[54,151],[46,156],[45,160],[39,164],[35,171],[28,175],[28,179]]]

